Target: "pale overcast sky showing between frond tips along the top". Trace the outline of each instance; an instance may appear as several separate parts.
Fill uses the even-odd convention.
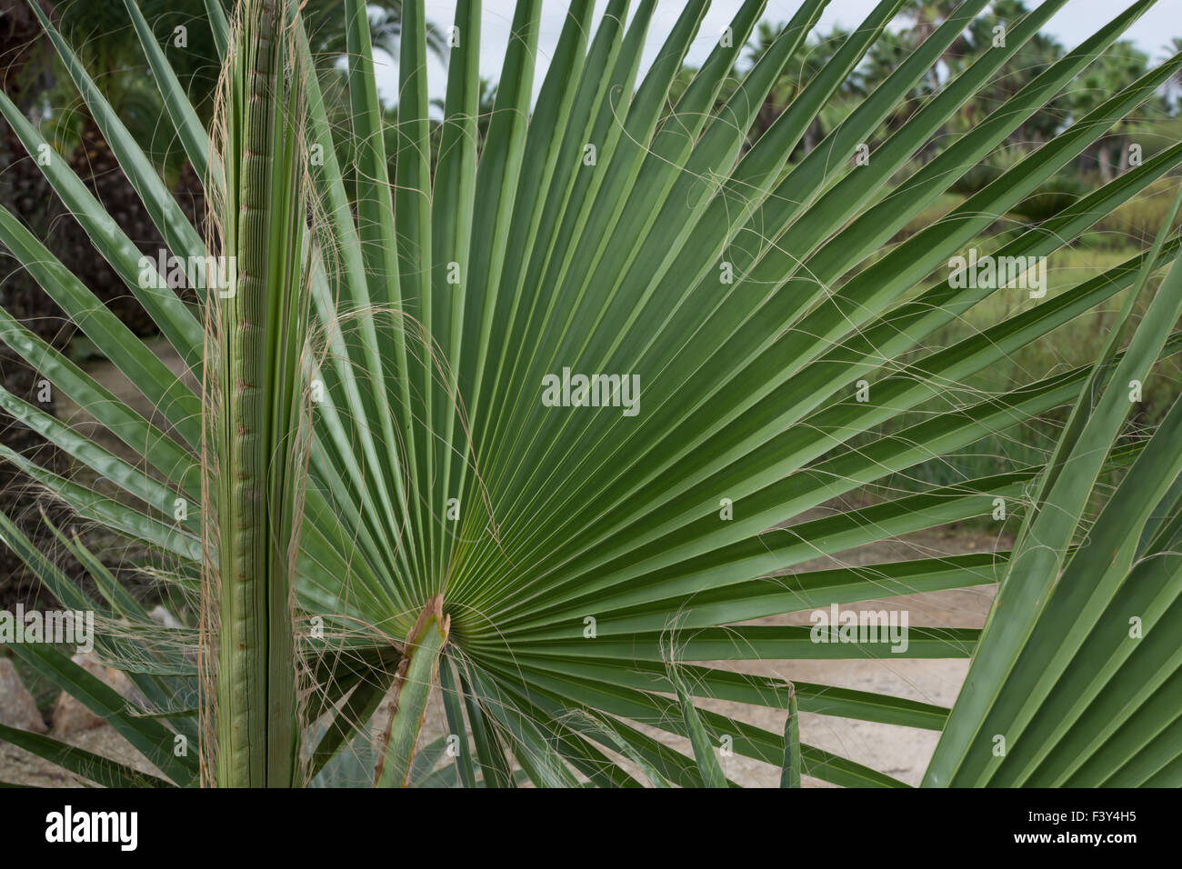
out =
[[[1116,14],[1129,5],[1130,0],[1067,0],[1045,28],[1059,39],[1069,48],[1090,37],[1103,24],[1111,20]],[[877,0],[831,0],[825,13],[821,15],[819,28],[829,30],[833,25],[840,25],[847,30],[859,25]],[[606,7],[606,0],[598,0],[596,4],[596,21]],[[636,4],[632,4],[635,6]],[[496,80],[500,78],[500,65],[504,58],[505,45],[508,40],[509,26],[513,18],[514,0],[485,0],[483,4],[483,32],[481,34],[481,74]],[[706,19],[702,24],[700,35],[690,47],[688,61],[701,63],[709,53],[719,31],[726,26],[734,17],[740,4],[738,0],[714,0]],[[799,2],[797,0],[768,0],[764,19],[772,22],[787,21],[792,18]],[[1034,7],[1037,2],[1027,2]],[[550,53],[558,43],[563,20],[567,4],[561,0],[543,0],[541,33],[538,41],[538,70],[534,78],[534,93],[541,86],[541,77],[545,72]],[[656,52],[668,35],[669,30],[676,21],[683,4],[677,0],[660,0],[657,11],[652,17],[649,27],[648,47],[645,50],[644,66],[652,61]],[[447,31],[455,17],[454,0],[427,0],[427,19],[436,24],[441,30]],[[1171,37],[1182,37],[1182,0],[1158,0],[1157,5],[1147,12],[1126,32],[1125,37],[1132,39],[1142,51],[1149,53],[1155,60],[1164,59],[1165,45]],[[383,65],[378,70],[378,86],[384,100],[397,102],[397,69],[392,63]],[[444,69],[436,60],[431,60],[428,70],[431,97],[442,97],[444,92]]]

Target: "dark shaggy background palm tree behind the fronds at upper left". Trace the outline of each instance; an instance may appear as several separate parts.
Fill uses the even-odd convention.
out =
[[[233,2],[220,0],[229,12]],[[175,131],[161,123],[164,103],[152,82],[152,72],[139,47],[128,12],[122,2],[93,0],[43,0],[43,11],[60,28],[79,58],[93,72],[111,106],[126,124],[149,158],[161,168],[186,218],[199,231],[206,220],[202,180],[194,171]],[[144,0],[144,19],[168,57],[169,64],[202,123],[213,116],[214,91],[220,66],[204,0]],[[401,0],[368,5],[375,45],[397,57]],[[311,47],[325,86],[342,76],[337,63],[345,50],[345,31],[339,5],[329,0],[306,4]],[[183,27],[181,37],[177,27]],[[435,25],[427,25],[427,44],[443,57],[444,39]],[[44,31],[25,0],[7,2],[0,9],[0,74],[5,92],[17,99],[26,115],[41,119],[56,153],[70,161],[74,174],[115,219],[122,232],[143,252],[155,252],[163,238],[144,209],[139,195],[128,182],[89,106],[78,96],[73,82],[44,38]],[[178,45],[177,41],[183,41]],[[391,122],[392,123],[392,122]],[[0,119],[0,203],[15,213],[25,226],[45,241],[71,271],[83,275],[87,287],[128,324],[137,336],[156,335],[156,323],[110,264],[95,249],[70,209],[52,194],[35,162],[24,151],[11,127]],[[195,297],[190,293],[189,301]],[[7,275],[0,288],[0,304],[17,313],[52,346],[71,346],[77,330],[60,307],[26,274]],[[79,358],[93,350],[76,342],[72,352]],[[35,371],[20,357],[0,348],[0,377],[15,395],[34,394]],[[52,403],[47,406],[52,408]],[[24,426],[6,424],[0,441],[19,449],[30,446],[32,433]],[[58,461],[43,450],[48,463]],[[48,543],[39,511],[56,507],[39,498],[31,480],[5,466],[0,489],[12,513],[25,517],[24,527]],[[31,602],[40,584],[7,550],[0,562],[0,602]],[[77,570],[73,571],[77,573]]]

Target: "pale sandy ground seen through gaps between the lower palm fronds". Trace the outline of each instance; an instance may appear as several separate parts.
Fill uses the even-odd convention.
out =
[[[175,356],[162,356],[169,367],[180,372],[181,362]],[[119,398],[138,407],[145,416],[151,408],[143,407],[138,393],[126,383],[109,363],[89,365],[93,376],[102,381]],[[69,400],[60,400],[59,414],[67,421],[82,423],[86,430],[82,411]],[[158,414],[156,415],[158,417]],[[158,419],[157,419],[158,422]],[[105,435],[105,433],[103,433]],[[105,446],[126,455],[123,445],[109,435],[102,437]],[[819,515],[819,513],[817,513]],[[803,519],[813,515],[801,517]],[[840,564],[873,564],[931,555],[1000,549],[1005,541],[995,540],[979,531],[949,528],[910,534],[905,540],[884,540],[842,553]],[[834,566],[833,559],[820,559],[799,570],[817,570]],[[889,602],[849,604],[847,609],[905,609],[913,627],[980,628],[985,623],[993,586],[940,591],[890,598]],[[793,614],[778,618],[760,620],[761,624],[807,624],[806,614]],[[720,667],[735,667],[720,662]],[[845,660],[845,661],[758,661],[740,664],[747,672],[801,682],[820,682],[859,690],[877,692],[909,698],[928,703],[950,706],[968,672],[967,659],[953,660]],[[735,667],[736,669],[739,667]],[[730,702],[707,702],[707,708],[749,721],[766,729],[780,732],[785,713],[765,707],[749,707]],[[446,732],[442,703],[433,699],[424,722],[424,735],[434,739]],[[858,763],[894,776],[908,784],[918,784],[923,770],[935,748],[937,734],[933,731],[881,725],[830,715],[803,713],[800,716],[803,741],[849,757]],[[688,752],[683,740],[660,734],[663,741]],[[110,727],[102,726],[71,737],[70,741],[103,754],[131,761],[148,771],[150,765],[138,757],[135,748]],[[739,755],[721,758],[725,772],[747,786],[774,787],[779,783],[779,770],[760,761]],[[74,777],[61,773],[32,755],[0,742],[0,780],[15,784],[33,784],[47,787],[76,785]],[[805,779],[806,786],[824,786],[816,779]]]

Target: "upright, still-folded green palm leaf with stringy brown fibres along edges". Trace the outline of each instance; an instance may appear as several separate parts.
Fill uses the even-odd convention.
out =
[[[216,449],[207,492],[217,499],[220,786],[282,787],[297,777],[290,598],[301,515],[307,300],[291,6],[243,0],[226,83],[221,223],[236,283],[210,292],[222,297],[220,394],[207,411],[216,413],[207,429]]]

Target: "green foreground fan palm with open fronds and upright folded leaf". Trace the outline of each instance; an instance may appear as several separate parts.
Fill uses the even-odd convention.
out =
[[[1158,571],[1158,591],[1134,602],[1143,604],[1145,627],[1161,621],[1167,598],[1182,590],[1175,562],[1147,559],[1168,552],[1176,537],[1178,493],[1170,484],[1178,468],[1168,445],[1177,414],[1148,445],[1112,449],[1132,407],[1123,382],[1147,382],[1154,362],[1182,346],[1171,331],[1182,273],[1171,271],[1156,291],[1150,280],[1173,261],[1178,240],[1163,236],[1144,254],[950,346],[927,350],[923,342],[999,292],[953,286],[944,264],[1150,99],[1177,71],[1180,56],[1074,118],[943,219],[889,244],[1069,87],[1152,0],[1131,4],[892,186],[1064,4],[1047,0],[1013,22],[890,138],[872,153],[863,149],[987,6],[966,0],[790,164],[903,0],[878,4],[751,148],[747,134],[765,97],[799,64],[825,0],[800,4],[721,108],[716,96],[761,2],[741,4],[670,108],[667,93],[704,0],[684,5],[643,77],[655,2],[642,0],[628,18],[625,0],[611,0],[593,35],[593,4],[571,4],[537,99],[540,0],[521,0],[482,147],[480,4],[461,2],[437,162],[422,2],[403,5],[392,137],[383,129],[359,0],[343,11],[350,129],[329,124],[316,77],[303,74],[312,58],[294,4],[247,2],[233,27],[210,4],[227,66],[221,122],[210,137],[126,0],[169,117],[220,203],[223,240],[201,239],[184,221],[51,28],[170,253],[186,261],[235,255],[239,283],[227,299],[210,290],[199,311],[167,288],[141,286],[131,242],[69,167],[45,163],[58,195],[203,388],[173,375],[0,213],[0,242],[167,421],[162,428],[144,420],[0,314],[0,338],[137,460],[11,395],[4,396],[11,414],[123,494],[63,479],[15,453],[5,458],[86,521],[156,553],[154,570],[203,602],[200,630],[220,644],[216,661],[199,668],[187,654],[197,647],[196,625],[152,625],[83,541],[63,533],[103,594],[91,601],[2,520],[6,541],[64,604],[99,610],[100,651],[129,673],[154,714],[129,712],[51,647],[14,650],[126,735],[167,778],[152,784],[190,784],[202,770],[220,784],[306,782],[375,719],[391,688],[396,701],[377,715],[379,784],[726,785],[715,757],[723,742],[782,767],[790,786],[801,776],[902,784],[801,742],[798,711],[942,731],[928,774],[937,785],[1099,780],[1112,771],[1089,764],[1110,763],[1106,747],[1118,739],[1121,757],[1142,758],[1136,752],[1147,744],[1138,738],[1177,729],[1160,702],[1163,680],[1173,679],[1163,668],[1175,657],[1157,647],[1144,651],[1157,631],[1097,669],[1097,649],[1108,647],[1084,644],[1090,635],[1082,631],[1108,631],[1124,617],[1122,595],[1149,594],[1139,583],[1126,590],[1126,575]],[[7,98],[0,110],[39,153],[38,131]],[[350,140],[344,150],[336,148],[339,137]],[[339,153],[356,154],[357,164],[338,164]],[[395,177],[387,169],[391,157]],[[1178,162],[1182,145],[1168,148],[992,253],[1047,257]],[[963,385],[1123,291],[1128,299],[1152,296],[1151,316],[1128,351],[1115,338],[1096,365],[1006,394]],[[1132,312],[1126,301],[1121,336],[1131,330]],[[590,394],[597,401],[580,374],[599,375]],[[1072,403],[1046,466],[1014,466],[801,520],[839,495]],[[929,411],[923,421],[882,434],[921,407]],[[1095,523],[1080,527],[1089,493],[1110,473],[1124,482]],[[1136,500],[1130,493],[1144,479],[1152,480],[1152,498],[1124,510],[1122,499]],[[875,540],[988,515],[998,499],[1025,512],[1013,553],[786,573],[820,556],[839,558]],[[181,504],[191,507],[177,511]],[[1100,564],[1092,553],[1108,559],[1110,544],[1118,556]],[[1069,577],[1079,583],[1069,586]],[[748,624],[995,582],[1001,592],[983,636],[913,628],[902,654],[889,642],[818,643],[807,627]],[[1085,585],[1082,598],[1076,589]],[[1103,640],[1117,642],[1109,633]],[[953,711],[747,675],[727,663],[974,651]],[[1164,656],[1148,660],[1154,654]],[[792,677],[791,663],[784,672]],[[1130,702],[1152,721],[1137,707],[1125,713],[1126,726],[1097,716],[1087,698],[1108,696],[1098,681],[1105,677],[1124,680]],[[1089,693],[1073,692],[1072,680],[1086,682]],[[448,733],[416,757],[435,686]],[[703,700],[784,709],[786,726],[767,731],[709,711]],[[1007,733],[1014,753],[999,755],[993,734]],[[95,780],[145,780],[45,737],[11,728],[0,737]],[[688,753],[677,750],[678,738],[688,738]],[[176,751],[201,739],[201,763]],[[1168,750],[1163,765],[1122,767],[1122,782],[1182,774],[1182,747],[1161,740],[1152,745]],[[444,747],[447,765],[433,772]],[[1013,759],[1019,751],[1021,760]]]

